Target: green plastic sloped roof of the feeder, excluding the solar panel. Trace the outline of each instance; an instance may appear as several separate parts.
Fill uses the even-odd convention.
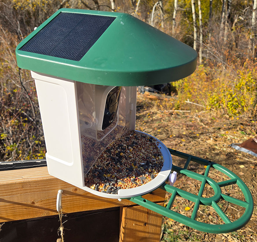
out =
[[[20,50],[60,12],[116,18],[79,61]],[[197,52],[193,48],[130,14],[66,8],[58,10],[21,41],[16,58],[23,69],[111,86],[171,82],[189,76],[197,65]]]

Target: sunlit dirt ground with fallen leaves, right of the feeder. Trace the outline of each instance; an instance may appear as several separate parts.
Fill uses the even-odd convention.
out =
[[[199,109],[199,107],[197,108]],[[240,230],[226,234],[199,232],[172,219],[164,218],[161,241],[257,241],[257,157],[230,147],[232,143],[241,143],[256,137],[257,120],[218,116],[214,111],[197,111],[193,106],[191,109],[190,112],[161,110],[155,101],[139,94],[136,129],[155,136],[168,148],[213,161],[232,170],[251,191],[254,198],[254,212],[247,225]],[[190,110],[190,106],[187,110]],[[173,164],[182,166],[183,161],[173,157]],[[191,162],[189,170],[203,174],[205,168],[203,165]],[[229,179],[214,169],[210,171],[209,177],[215,181]],[[182,175],[178,176],[175,183],[176,187],[194,194],[198,193],[200,185],[199,181]],[[236,184],[222,188],[222,192],[244,200],[243,193]],[[203,197],[211,197],[213,194],[212,188],[206,185]],[[170,194],[167,193],[166,204],[169,197]],[[175,199],[172,210],[191,216],[193,206],[191,201],[179,197]],[[244,208],[226,201],[220,201],[219,206],[231,221],[238,219],[244,213]],[[200,205],[197,220],[214,224],[222,222],[212,207],[203,205]]]

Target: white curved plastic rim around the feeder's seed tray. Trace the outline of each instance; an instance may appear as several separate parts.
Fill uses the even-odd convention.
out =
[[[155,140],[157,140],[155,137],[153,137],[152,135],[149,135],[147,133],[141,132],[141,131],[136,131],[138,133],[143,133],[145,135],[148,135],[149,137],[154,138]],[[149,181],[148,183],[139,186],[139,187],[135,187],[135,188],[129,188],[129,189],[120,189],[118,190],[118,194],[109,194],[109,193],[104,193],[104,192],[99,192],[96,190],[93,190],[87,186],[83,186],[80,187],[81,189],[93,193],[99,197],[107,197],[107,198],[130,198],[130,197],[136,197],[139,195],[144,195],[147,194],[153,190],[155,190],[156,188],[158,188],[161,184],[163,184],[166,179],[168,178],[168,176],[170,175],[171,172],[171,168],[172,168],[172,158],[170,155],[169,150],[167,149],[167,147],[159,140],[157,140],[157,146],[159,147],[162,156],[163,156],[163,166],[160,170],[160,172],[158,173],[158,175],[151,181]]]

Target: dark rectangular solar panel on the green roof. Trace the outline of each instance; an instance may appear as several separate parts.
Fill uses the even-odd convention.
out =
[[[115,17],[60,12],[20,50],[79,61]]]

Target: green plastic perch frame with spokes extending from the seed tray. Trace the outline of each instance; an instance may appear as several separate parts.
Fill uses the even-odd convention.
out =
[[[132,197],[129,199],[130,201],[133,201],[138,205],[141,205],[145,208],[148,208],[159,214],[162,214],[163,216],[174,219],[179,223],[183,223],[191,228],[194,228],[203,232],[208,232],[208,233],[218,234],[218,233],[232,232],[242,228],[244,225],[247,224],[247,222],[252,217],[252,212],[254,207],[253,198],[249,189],[245,185],[245,183],[236,174],[234,174],[232,171],[228,170],[224,166],[221,166],[214,162],[210,162],[208,160],[205,160],[196,156],[192,156],[180,151],[176,151],[173,149],[168,148],[168,150],[170,151],[171,155],[175,155],[186,160],[186,163],[183,168],[173,165],[172,166],[173,171],[176,171],[178,174],[182,174],[192,179],[201,181],[201,186],[200,186],[198,195],[192,194],[190,192],[187,192],[179,188],[176,188],[174,186],[170,186],[166,183],[163,183],[159,188],[166,190],[167,192],[170,192],[172,194],[166,207],[153,203],[147,199],[142,198],[141,196]],[[188,170],[188,166],[190,162],[196,162],[196,163],[205,165],[206,168],[205,168],[204,175],[200,175],[198,173]],[[214,168],[222,172],[223,174],[227,175],[230,179],[226,181],[215,182],[213,179],[208,177],[210,168]],[[212,187],[212,189],[215,192],[214,196],[202,197],[205,184],[209,184]],[[238,185],[238,187],[243,192],[245,201],[236,199],[234,197],[230,197],[222,193],[221,187],[229,186],[232,184]],[[189,201],[192,201],[195,203],[191,217],[186,217],[183,214],[180,214],[170,209],[176,196],[188,199]],[[234,203],[238,206],[245,208],[244,214],[236,221],[230,221],[227,215],[221,210],[221,208],[217,204],[220,200],[225,200],[227,202]],[[219,214],[221,219],[224,221],[224,224],[209,224],[209,223],[203,223],[203,222],[197,221],[196,216],[197,216],[197,211],[199,210],[199,205],[212,206],[212,208],[217,212],[217,214]]]

